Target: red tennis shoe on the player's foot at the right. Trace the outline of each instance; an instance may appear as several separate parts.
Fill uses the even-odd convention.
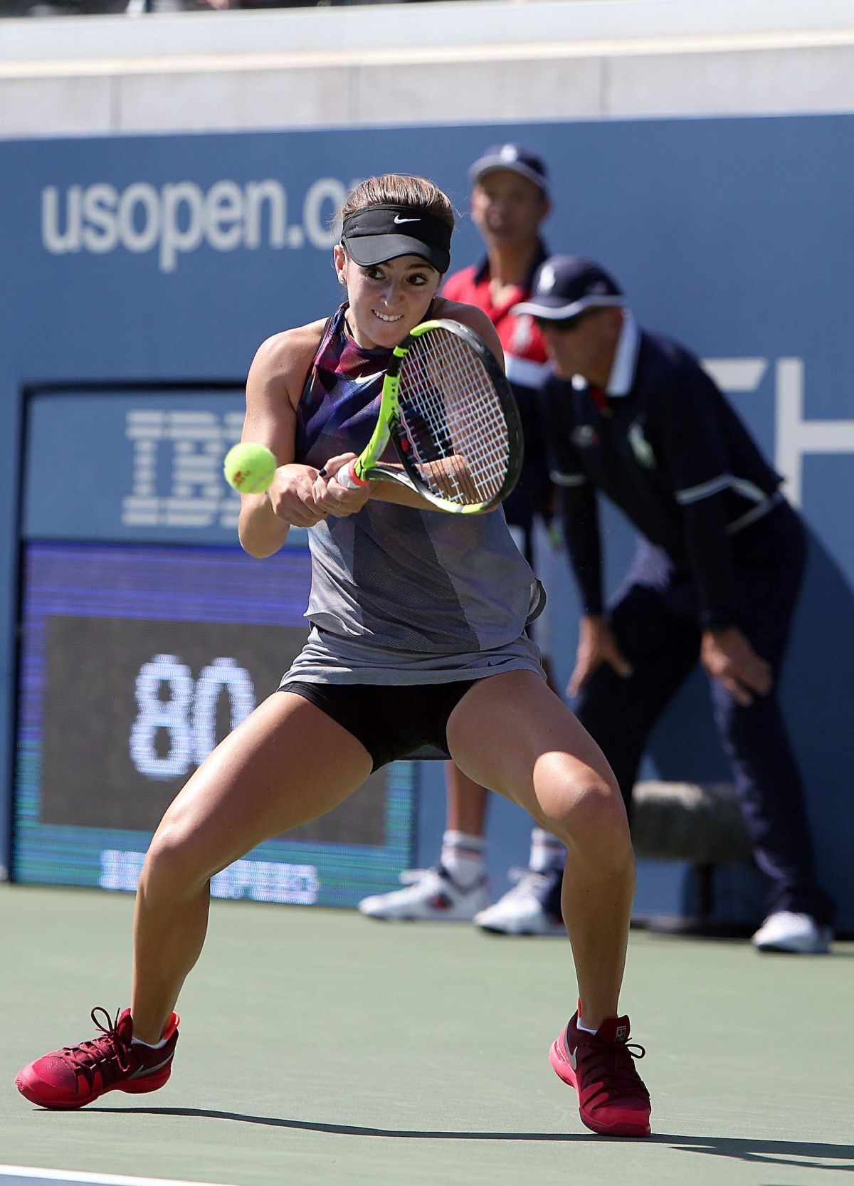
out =
[[[606,1136],[649,1136],[650,1099],[635,1059],[643,1046],[629,1045],[629,1018],[607,1018],[588,1034],[578,1013],[552,1046],[549,1061],[579,1093],[587,1128]]]

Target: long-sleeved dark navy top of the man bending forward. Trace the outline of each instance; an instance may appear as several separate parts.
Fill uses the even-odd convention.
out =
[[[603,607],[599,489],[694,582],[700,624],[732,624],[731,540],[782,499],[783,479],[697,359],[627,314],[608,391],[552,378],[543,400],[585,612]]]

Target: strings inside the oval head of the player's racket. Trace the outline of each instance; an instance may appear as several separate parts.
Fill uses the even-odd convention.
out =
[[[501,493],[510,467],[504,408],[489,370],[446,330],[416,339],[401,368],[401,426],[428,489],[473,505]]]

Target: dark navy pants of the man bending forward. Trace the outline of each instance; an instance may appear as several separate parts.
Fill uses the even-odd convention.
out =
[[[773,669],[775,688],[750,707],[716,680],[712,708],[744,811],[753,855],[771,880],[771,910],[829,923],[830,900],[815,882],[810,830],[797,761],[777,699],[789,630],[803,576],[805,540],[788,504],[733,536],[738,626]],[[575,706],[617,776],[626,806],[649,734],[697,662],[697,602],[688,574],[642,541],[610,611],[620,650],[635,672],[600,668]]]

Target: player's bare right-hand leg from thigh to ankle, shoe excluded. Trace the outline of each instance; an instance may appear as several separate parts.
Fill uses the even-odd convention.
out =
[[[448,722],[454,760],[567,846],[563,918],[584,1024],[618,1013],[635,857],[616,779],[569,709],[529,671],[479,680]]]

